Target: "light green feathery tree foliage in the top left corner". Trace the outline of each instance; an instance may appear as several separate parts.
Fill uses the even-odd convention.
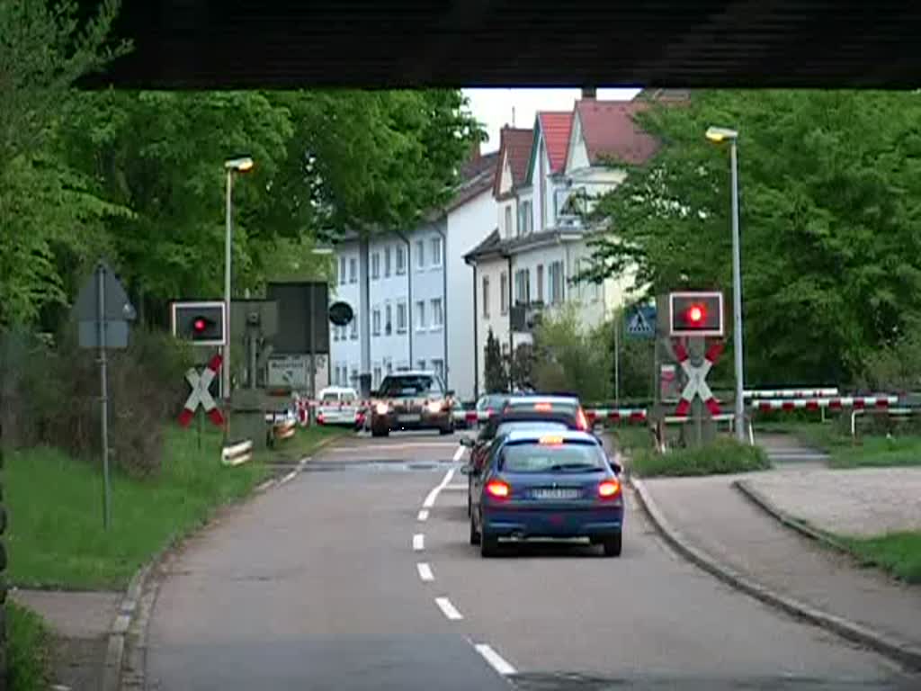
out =
[[[0,3],[0,323],[33,322],[63,303],[66,265],[104,246],[105,218],[128,213],[52,155],[74,83],[129,49],[110,38],[119,5]]]

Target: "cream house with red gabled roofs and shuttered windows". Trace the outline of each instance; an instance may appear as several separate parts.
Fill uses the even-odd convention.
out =
[[[478,392],[484,392],[490,329],[508,353],[530,343],[536,315],[564,302],[577,305],[586,327],[624,304],[633,287],[631,273],[602,284],[572,282],[590,260],[591,233],[599,231],[586,228],[579,212],[624,181],[626,170],[609,160],[642,164],[656,152],[656,140],[634,123],[635,113],[647,107],[646,100],[599,101],[584,92],[573,111],[539,112],[530,146],[523,144],[527,130],[503,130],[495,230],[466,257],[477,276]]]

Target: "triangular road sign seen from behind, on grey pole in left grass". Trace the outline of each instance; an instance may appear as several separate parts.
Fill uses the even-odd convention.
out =
[[[128,347],[128,322],[135,312],[121,282],[108,264],[99,260],[93,275],[80,289],[74,304],[78,322],[77,343],[99,350],[99,436],[102,446],[102,525],[111,524],[109,481],[109,367],[106,351]]]

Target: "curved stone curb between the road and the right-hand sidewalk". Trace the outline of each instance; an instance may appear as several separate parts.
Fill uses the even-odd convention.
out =
[[[798,600],[773,591],[761,583],[741,575],[729,566],[720,564],[714,557],[691,545],[681,533],[671,527],[641,480],[631,477],[629,478],[629,483],[634,488],[640,504],[659,534],[679,554],[697,567],[703,568],[707,573],[733,588],[745,592],[763,603],[770,604],[788,615],[808,621],[810,624],[832,631],[842,638],[863,645],[870,650],[875,650],[915,672],[921,671],[921,650],[915,646],[892,638],[888,634],[883,634],[849,621],[844,617],[822,612],[822,610],[816,609],[809,604],[801,603]]]

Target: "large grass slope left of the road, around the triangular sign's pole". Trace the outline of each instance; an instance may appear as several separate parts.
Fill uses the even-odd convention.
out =
[[[298,429],[282,445],[301,451],[325,432]],[[20,587],[122,589],[134,571],[173,540],[191,533],[225,504],[251,493],[270,474],[274,453],[251,463],[220,463],[221,437],[170,427],[160,474],[136,480],[112,474],[112,519],[102,526],[102,480],[91,463],[55,449],[7,456],[9,579]],[[297,451],[300,452],[300,451]]]

